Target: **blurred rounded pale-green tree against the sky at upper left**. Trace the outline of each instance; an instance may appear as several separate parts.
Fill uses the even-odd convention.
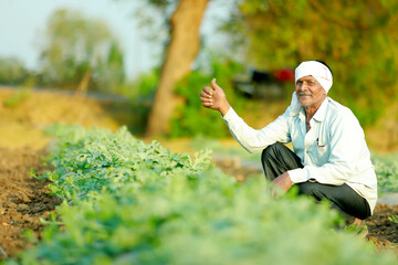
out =
[[[123,53],[107,25],[76,11],[57,10],[41,53],[43,83],[112,91],[124,81]],[[90,82],[88,82],[90,81]]]

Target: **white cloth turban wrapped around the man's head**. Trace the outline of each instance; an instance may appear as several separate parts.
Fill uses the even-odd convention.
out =
[[[322,87],[325,89],[326,94],[331,89],[333,84],[332,72],[328,70],[326,65],[316,61],[306,61],[302,62],[295,68],[295,83],[303,76],[312,75]]]

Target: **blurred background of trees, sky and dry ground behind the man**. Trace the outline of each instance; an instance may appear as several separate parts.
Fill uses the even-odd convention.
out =
[[[398,151],[398,2],[388,0],[0,0],[0,147],[44,147],[50,124],[157,139],[176,151],[235,145],[201,106],[212,77],[262,128],[294,68],[322,60],[328,96],[376,152]],[[210,140],[209,140],[210,139]],[[192,145],[190,145],[192,147]]]

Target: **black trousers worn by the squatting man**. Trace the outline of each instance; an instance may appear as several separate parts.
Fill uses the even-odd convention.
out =
[[[291,169],[303,168],[301,159],[280,142],[266,147],[262,152],[261,161],[265,177],[271,181]],[[332,202],[332,208],[346,214],[362,220],[371,214],[368,202],[345,183],[331,186],[307,181],[296,186],[298,194],[311,195],[317,201],[327,199]]]

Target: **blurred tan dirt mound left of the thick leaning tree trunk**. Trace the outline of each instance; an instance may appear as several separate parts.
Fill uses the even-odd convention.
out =
[[[50,92],[29,92],[24,97],[18,97],[20,93],[0,86],[0,148],[44,148],[50,138],[43,136],[42,130],[53,124],[80,124],[115,131],[122,125],[130,127],[135,121],[128,102]]]

